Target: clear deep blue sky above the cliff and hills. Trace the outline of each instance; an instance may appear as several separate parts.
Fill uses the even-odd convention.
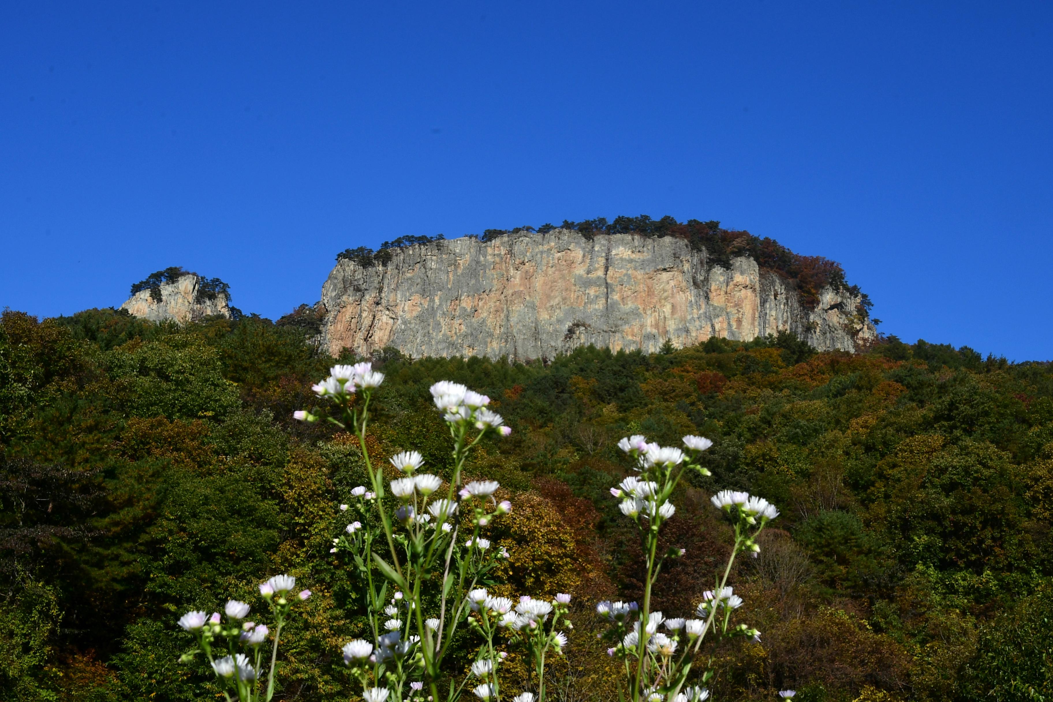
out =
[[[1049,2],[0,3],[0,307],[182,265],[277,318],[337,252],[716,219],[886,334],[1053,358]]]

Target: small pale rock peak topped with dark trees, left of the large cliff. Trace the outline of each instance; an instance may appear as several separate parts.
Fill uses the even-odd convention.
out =
[[[231,286],[219,278],[205,278],[181,266],[151,274],[132,286],[121,309],[154,322],[180,324],[204,317],[231,318]]]

